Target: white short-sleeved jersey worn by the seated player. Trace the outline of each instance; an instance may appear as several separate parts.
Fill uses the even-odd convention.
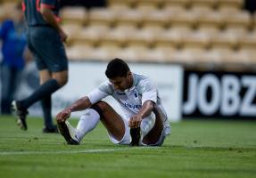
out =
[[[163,119],[164,127],[169,130],[169,120],[165,110],[161,105],[161,98],[159,96],[156,85],[153,85],[149,77],[143,75],[132,74],[133,85],[125,91],[115,90],[110,81],[105,81],[99,85],[95,90],[87,95],[92,104],[103,98],[111,95],[116,101],[120,103],[120,108],[124,112],[126,119],[134,116],[142,108],[145,101],[153,101],[156,107],[160,109]],[[167,132],[166,134],[169,134]]]

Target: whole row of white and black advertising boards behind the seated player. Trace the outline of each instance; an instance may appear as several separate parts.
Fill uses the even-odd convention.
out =
[[[68,84],[53,95],[53,115],[106,80],[106,65],[107,62],[102,61],[71,61]],[[255,72],[202,71],[180,65],[153,63],[129,63],[129,66],[135,73],[151,77],[158,85],[163,106],[172,122],[194,117],[255,119]],[[16,98],[22,99],[38,87],[37,73],[35,63],[26,67]],[[120,111],[111,97],[106,101]],[[34,104],[29,108],[29,113],[42,116],[41,105]],[[76,112],[72,117],[79,117],[82,113]]]

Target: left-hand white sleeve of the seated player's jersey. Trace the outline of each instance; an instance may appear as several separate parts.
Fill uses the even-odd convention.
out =
[[[111,95],[111,93],[113,93],[111,85],[108,81],[106,81],[95,88],[92,92],[88,93],[87,97],[92,104],[95,104],[97,101],[101,101],[103,98]]]

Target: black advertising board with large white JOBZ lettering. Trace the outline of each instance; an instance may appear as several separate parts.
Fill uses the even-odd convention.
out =
[[[183,117],[253,118],[256,74],[185,70]]]

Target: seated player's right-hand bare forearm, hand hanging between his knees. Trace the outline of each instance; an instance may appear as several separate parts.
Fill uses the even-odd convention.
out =
[[[130,118],[128,123],[129,127],[131,128],[139,127],[142,119],[149,116],[153,111],[153,106],[154,106],[153,101],[150,101],[150,100],[145,101],[142,105],[142,108],[139,110],[139,112]]]

